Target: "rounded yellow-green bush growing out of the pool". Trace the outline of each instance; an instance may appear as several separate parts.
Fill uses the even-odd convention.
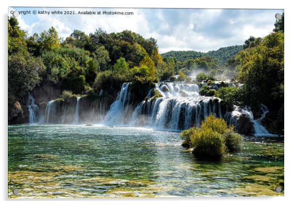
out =
[[[224,119],[207,116],[200,128],[192,127],[181,132],[182,145],[192,147],[197,157],[221,158],[224,154],[239,151],[242,137],[227,127]]]

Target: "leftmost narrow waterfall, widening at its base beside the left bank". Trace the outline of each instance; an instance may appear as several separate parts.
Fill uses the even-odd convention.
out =
[[[42,112],[37,104],[35,104],[35,99],[32,94],[28,91],[27,106],[29,108],[29,123],[37,123],[42,121]]]

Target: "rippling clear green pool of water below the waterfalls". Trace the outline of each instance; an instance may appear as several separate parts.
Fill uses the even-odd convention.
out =
[[[8,127],[9,198],[283,196],[284,143],[245,141],[197,160],[179,133],[135,127]],[[20,189],[13,195],[14,188]]]

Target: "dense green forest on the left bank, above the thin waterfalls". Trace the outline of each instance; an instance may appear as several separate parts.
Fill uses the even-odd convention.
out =
[[[97,92],[108,84],[156,82],[175,74],[158,53],[156,40],[131,31],[89,35],[74,32],[61,40],[55,28],[28,36],[16,18],[8,20],[8,103],[22,99],[42,81],[74,94]]]

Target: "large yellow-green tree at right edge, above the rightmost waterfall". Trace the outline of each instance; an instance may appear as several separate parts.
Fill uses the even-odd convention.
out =
[[[255,47],[249,47],[236,56],[242,87],[241,102],[253,111],[265,104],[278,110],[284,102],[284,33],[267,35]]]

